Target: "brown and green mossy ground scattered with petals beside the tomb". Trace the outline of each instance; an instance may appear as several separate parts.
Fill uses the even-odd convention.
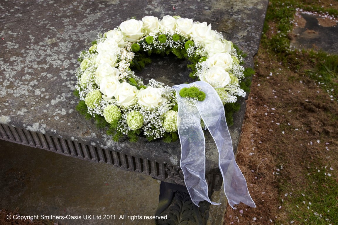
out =
[[[237,162],[257,208],[224,224],[338,224],[338,56],[291,51],[295,8],[338,16],[337,1],[271,0]]]

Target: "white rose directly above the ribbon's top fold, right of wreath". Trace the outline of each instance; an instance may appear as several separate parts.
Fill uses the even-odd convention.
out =
[[[222,67],[213,66],[208,69],[206,74],[201,78],[201,81],[206,81],[215,88],[222,88],[230,84],[231,78],[229,73]]]

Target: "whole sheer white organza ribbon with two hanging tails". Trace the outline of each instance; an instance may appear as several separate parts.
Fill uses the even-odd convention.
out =
[[[219,153],[219,169],[223,176],[224,193],[229,205],[243,202],[256,207],[252,200],[245,178],[239,169],[233,152],[230,133],[225,121],[224,106],[215,89],[204,81],[192,84],[201,87],[206,93],[204,101],[195,101],[191,104],[186,98],[179,95],[179,91],[188,84],[175,85],[178,116],[177,128],[182,147],[181,169],[191,200],[198,206],[199,201],[207,200],[213,205],[220,203],[212,202],[208,197],[208,184],[205,178],[206,156],[205,139],[201,128],[201,118],[204,125],[211,133]]]

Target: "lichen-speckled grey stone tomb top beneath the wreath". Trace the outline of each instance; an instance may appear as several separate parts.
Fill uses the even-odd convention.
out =
[[[180,15],[211,23],[246,53],[253,66],[266,0],[215,1],[2,1],[0,3],[0,123],[45,135],[111,149],[159,163],[179,165],[180,143],[122,141],[115,143],[104,130],[86,121],[72,94],[79,66],[76,59],[88,49],[97,33],[136,17]],[[175,62],[174,62],[175,61]],[[157,59],[140,76],[155,77],[168,85],[188,80],[186,62]],[[230,128],[237,148],[245,102]],[[6,137],[3,137],[6,139]],[[206,138],[207,173],[218,167],[218,153],[210,135]]]

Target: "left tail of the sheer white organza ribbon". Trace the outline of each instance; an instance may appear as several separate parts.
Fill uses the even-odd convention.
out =
[[[178,115],[177,128],[182,147],[180,166],[184,181],[192,202],[198,206],[199,201],[212,202],[208,196],[208,184],[205,176],[205,139],[200,125],[200,115],[196,106],[186,103],[186,99],[179,96],[179,90],[185,85],[176,85]]]

